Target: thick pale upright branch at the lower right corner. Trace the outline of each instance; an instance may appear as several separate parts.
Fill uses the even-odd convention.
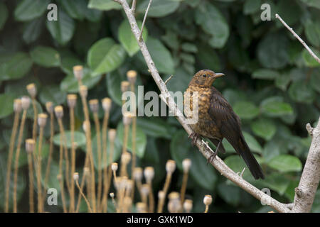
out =
[[[295,189],[292,212],[310,212],[320,181],[320,118],[316,128],[310,130],[309,124],[306,128],[311,132],[312,142],[299,186]]]

